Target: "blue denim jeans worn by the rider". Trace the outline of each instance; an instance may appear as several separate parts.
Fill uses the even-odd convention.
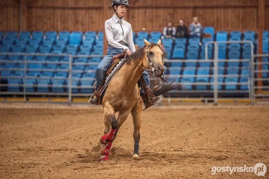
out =
[[[108,67],[112,63],[112,57],[114,55],[116,55],[118,53],[122,53],[122,52],[123,52],[123,49],[119,49],[119,48],[116,48],[116,47],[108,47],[107,48],[107,55],[104,56],[104,58],[98,64],[97,69],[96,69],[96,86],[95,86],[95,90],[97,90],[98,87],[101,85],[102,79],[104,77],[104,74],[107,71]],[[150,81],[149,81],[149,78],[148,78],[148,73],[146,71],[144,71],[142,73],[142,77],[144,78],[147,85],[149,86]],[[140,90],[140,94],[141,93],[144,93],[144,91],[142,89]]]

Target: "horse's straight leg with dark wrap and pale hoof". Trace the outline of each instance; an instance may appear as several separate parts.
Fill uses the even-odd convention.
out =
[[[142,112],[142,98],[140,97],[134,108],[131,110],[134,124],[134,153],[133,157],[139,157],[139,141],[140,141],[140,126],[141,126],[141,112]]]

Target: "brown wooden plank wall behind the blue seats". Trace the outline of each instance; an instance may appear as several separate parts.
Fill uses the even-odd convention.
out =
[[[107,0],[107,19],[112,16]],[[133,31],[162,31],[168,20],[186,26],[197,16],[203,26],[216,30],[257,30],[259,0],[129,0],[125,19]],[[101,0],[23,0],[23,30],[102,30]],[[269,30],[269,0],[265,1],[265,27]],[[20,30],[20,1],[0,1],[0,30]]]

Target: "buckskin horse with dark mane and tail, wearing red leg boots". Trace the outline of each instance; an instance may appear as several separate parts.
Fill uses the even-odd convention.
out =
[[[134,125],[134,153],[133,157],[139,157],[139,140],[141,126],[141,112],[143,100],[139,94],[140,76],[144,70],[154,73],[161,77],[164,74],[163,52],[160,49],[161,39],[156,43],[150,43],[144,39],[144,46],[132,53],[118,70],[107,86],[102,99],[104,108],[105,132],[100,139],[101,144],[105,144],[105,149],[99,161],[108,160],[109,151],[116,134],[127,119],[129,113],[133,117]],[[159,80],[160,81],[160,80]],[[180,84],[170,82],[153,83],[153,92],[155,95],[164,94],[175,88],[180,88]],[[118,111],[118,119],[115,112]]]

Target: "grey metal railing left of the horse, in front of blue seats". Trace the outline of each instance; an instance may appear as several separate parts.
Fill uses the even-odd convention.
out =
[[[98,65],[99,62],[73,62],[73,59],[75,58],[92,58],[92,57],[99,57],[102,58],[104,55],[70,55],[70,54],[52,54],[52,53],[0,53],[0,55],[16,55],[16,56],[23,56],[23,60],[0,60],[0,63],[4,63],[6,65],[10,64],[23,64],[19,65],[20,68],[0,68],[1,71],[15,71],[16,72],[22,72],[23,71],[23,76],[3,76],[1,75],[2,79],[7,79],[7,78],[15,78],[15,79],[21,79],[23,80],[23,84],[1,84],[0,83],[0,95],[23,95],[24,100],[26,100],[26,95],[55,95],[55,96],[68,96],[68,102],[72,101],[72,96],[90,96],[93,93],[72,93],[72,89],[78,88],[78,89],[93,89],[94,91],[94,86],[93,85],[84,85],[84,86],[73,86],[72,85],[72,80],[89,80],[89,81],[95,81],[94,78],[72,78],[72,73],[94,73],[95,74],[95,69],[93,70],[72,70],[73,65]],[[47,57],[63,57],[62,59],[66,58],[65,60],[55,60],[55,61],[48,61],[48,60],[27,60],[27,56],[46,56]],[[67,60],[68,59],[68,60]],[[57,65],[62,65],[66,64],[68,65],[68,68],[66,69],[36,69],[36,68],[28,68],[29,64],[33,63],[38,63],[38,64],[57,64]],[[27,76],[27,72],[32,71],[32,72],[67,72],[67,77],[41,77],[41,76]],[[25,80],[27,79],[47,79],[47,80],[66,80],[65,85],[55,85],[55,84],[48,84],[48,85],[41,85],[41,84],[33,84],[29,85],[25,83]],[[1,91],[1,87],[21,87],[23,88],[23,91]],[[27,87],[47,87],[47,88],[54,88],[54,87],[61,87],[65,88],[68,92],[27,92],[26,88]]]

